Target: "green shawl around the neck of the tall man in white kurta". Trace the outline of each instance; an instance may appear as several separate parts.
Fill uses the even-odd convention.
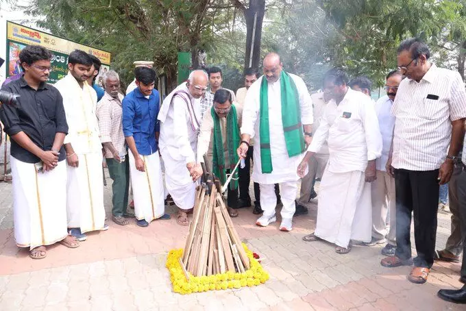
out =
[[[291,158],[304,152],[306,142],[301,123],[301,108],[299,107],[299,94],[293,79],[282,71],[280,74],[280,93],[282,104],[282,124],[286,142],[286,150]],[[260,84],[260,164],[262,173],[271,173],[272,156],[270,151],[269,129],[269,89],[267,79],[262,77]]]

